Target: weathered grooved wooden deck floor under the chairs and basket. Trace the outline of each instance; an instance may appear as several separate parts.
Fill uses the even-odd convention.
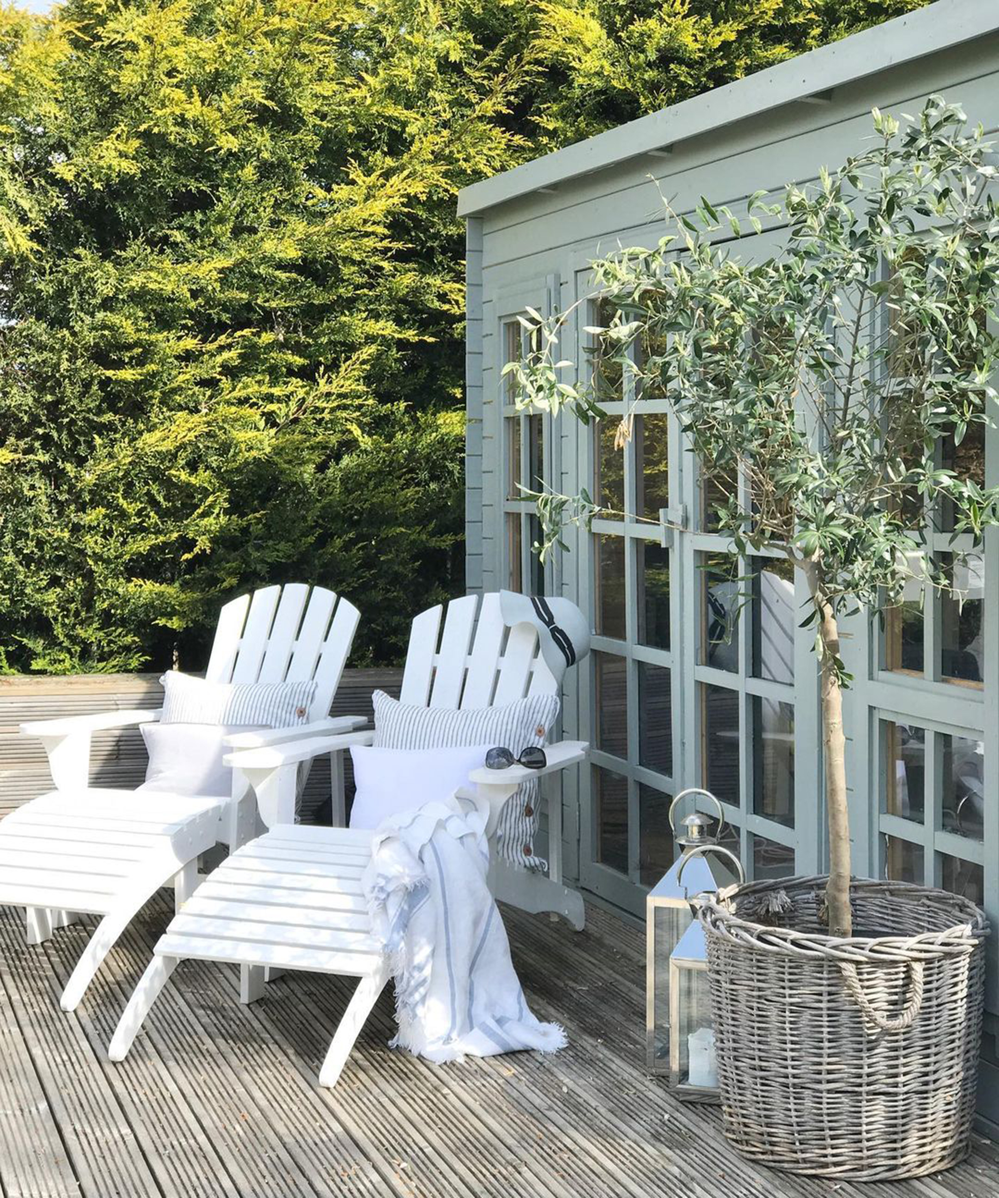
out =
[[[391,1052],[383,997],[339,1085],[319,1063],[350,991],[289,975],[249,1008],[234,972],[175,974],[124,1065],[104,1053],[163,928],[167,896],[126,933],[76,1015],[58,996],[83,943],[24,944],[0,909],[2,1198],[994,1198],[999,1152],[922,1181],[854,1186],[741,1161],[717,1114],[643,1067],[642,933],[590,909],[576,934],[506,910],[535,1011],[570,1047],[433,1066]]]

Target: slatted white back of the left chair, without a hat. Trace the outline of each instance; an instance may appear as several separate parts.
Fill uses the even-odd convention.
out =
[[[301,582],[263,587],[218,615],[209,682],[317,682],[308,720],[330,714],[360,612],[343,597]]]

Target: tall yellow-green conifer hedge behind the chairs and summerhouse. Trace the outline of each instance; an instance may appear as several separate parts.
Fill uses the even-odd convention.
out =
[[[0,8],[0,668],[462,589],[455,195],[919,0]],[[374,601],[373,601],[374,600]]]

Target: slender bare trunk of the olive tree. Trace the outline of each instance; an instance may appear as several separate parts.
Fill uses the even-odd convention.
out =
[[[823,594],[814,563],[806,564],[808,588],[819,616],[822,641],[822,728],[825,766],[825,809],[829,822],[829,884],[825,891],[829,932],[849,936],[850,821],[847,806],[847,740],[843,734],[843,688],[839,682],[839,627]]]

